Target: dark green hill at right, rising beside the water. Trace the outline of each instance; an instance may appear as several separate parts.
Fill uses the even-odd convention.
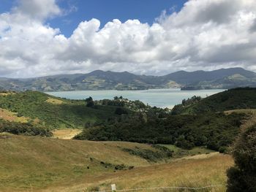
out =
[[[195,104],[179,104],[173,108],[173,114],[201,114],[238,109],[256,109],[256,88],[234,88],[208,96]]]

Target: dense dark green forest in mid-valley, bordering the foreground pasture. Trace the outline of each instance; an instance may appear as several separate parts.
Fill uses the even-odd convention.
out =
[[[159,119],[127,116],[85,129],[75,139],[172,144],[225,151],[238,135],[244,114],[169,115]]]

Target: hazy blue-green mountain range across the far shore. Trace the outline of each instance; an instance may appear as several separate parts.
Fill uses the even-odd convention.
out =
[[[129,72],[59,74],[27,79],[0,78],[0,89],[13,91],[143,90],[181,88],[183,90],[256,87],[256,73],[242,68],[211,72],[179,71],[164,76],[137,75]]]

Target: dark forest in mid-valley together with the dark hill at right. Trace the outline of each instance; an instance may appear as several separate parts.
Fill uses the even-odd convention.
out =
[[[166,143],[178,147],[207,146],[225,151],[248,113],[227,110],[256,109],[256,88],[236,88],[206,99],[194,96],[173,108],[171,114],[122,115],[85,129],[75,139]]]

